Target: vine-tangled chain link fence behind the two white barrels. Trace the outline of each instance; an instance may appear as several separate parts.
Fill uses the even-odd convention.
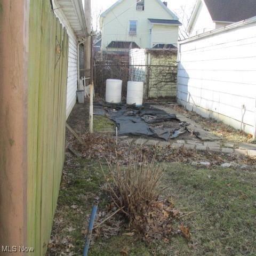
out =
[[[177,63],[170,61],[167,65],[130,65],[128,54],[101,55],[94,61],[95,93],[105,97],[106,80],[123,81],[122,96],[126,97],[127,82],[144,83],[144,100],[159,98],[176,98]]]

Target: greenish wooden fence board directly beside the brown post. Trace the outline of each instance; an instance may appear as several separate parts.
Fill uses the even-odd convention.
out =
[[[29,18],[29,90],[28,90],[28,190],[27,190],[27,246],[36,249],[39,255],[39,227],[41,202],[38,200],[37,138],[38,138],[38,93],[39,59],[41,45],[42,1],[30,1]],[[34,253],[30,253],[33,255]]]

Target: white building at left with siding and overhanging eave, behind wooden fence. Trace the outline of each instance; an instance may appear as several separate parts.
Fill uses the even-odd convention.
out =
[[[82,0],[52,0],[53,10],[69,36],[67,110],[68,118],[76,103],[78,81],[78,45],[87,36]]]

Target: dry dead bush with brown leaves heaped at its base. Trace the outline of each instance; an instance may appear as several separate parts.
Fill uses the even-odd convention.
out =
[[[164,190],[161,189],[163,170],[156,164],[155,156],[148,161],[145,155],[139,158],[130,155],[126,167],[121,168],[118,162],[115,166],[109,163],[109,171],[109,175],[103,173],[111,200],[126,215],[131,229],[142,234],[148,243],[183,235],[182,230],[173,228],[173,220],[181,216],[179,210],[169,201],[158,199]],[[187,233],[190,234],[189,230]]]

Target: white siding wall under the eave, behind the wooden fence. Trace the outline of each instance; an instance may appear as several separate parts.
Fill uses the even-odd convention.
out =
[[[55,14],[60,19],[62,25],[67,29],[69,36],[69,47],[68,47],[68,81],[67,81],[67,108],[66,118],[71,113],[71,110],[76,103],[76,90],[77,90],[77,39],[67,21],[65,15],[61,10],[55,10]]]

